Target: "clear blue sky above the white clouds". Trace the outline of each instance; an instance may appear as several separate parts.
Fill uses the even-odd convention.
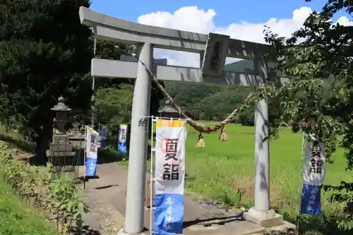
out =
[[[269,18],[292,18],[296,8],[309,6],[313,10],[320,10],[326,0],[313,0],[306,3],[304,0],[91,0],[91,8],[104,14],[124,20],[136,21],[138,16],[155,11],[169,11],[174,13],[182,6],[198,6],[208,10],[215,9],[217,16],[215,25],[222,27],[229,23],[238,23],[246,20],[249,23],[265,22]]]

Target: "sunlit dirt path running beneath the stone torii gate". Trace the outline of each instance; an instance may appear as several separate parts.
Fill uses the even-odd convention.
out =
[[[83,169],[80,169],[83,174]],[[104,198],[107,206],[112,206],[115,227],[122,227],[126,209],[127,169],[117,162],[99,164],[98,179],[90,179],[86,191],[93,197]],[[94,199],[95,200],[95,199]],[[186,235],[242,235],[263,231],[263,227],[242,219],[233,208],[209,200],[201,200],[196,195],[184,195],[184,233]],[[153,220],[152,213],[152,220]],[[113,226],[114,227],[114,226]],[[145,211],[145,228],[150,229],[150,211]]]

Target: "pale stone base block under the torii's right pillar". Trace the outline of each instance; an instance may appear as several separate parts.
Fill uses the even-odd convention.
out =
[[[244,213],[247,221],[258,224],[261,227],[270,228],[283,224],[282,215],[276,214],[275,210],[258,211],[251,207],[249,212]]]

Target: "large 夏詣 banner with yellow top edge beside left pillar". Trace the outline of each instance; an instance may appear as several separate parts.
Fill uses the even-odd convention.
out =
[[[182,234],[186,123],[156,121],[154,234]]]

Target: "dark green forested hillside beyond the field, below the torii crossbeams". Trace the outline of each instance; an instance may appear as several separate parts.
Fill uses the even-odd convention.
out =
[[[95,109],[97,120],[107,123],[110,128],[115,128],[119,123],[128,123],[131,117],[133,99],[132,83],[109,84],[97,90]],[[164,82],[164,87],[181,109],[193,119],[205,121],[221,121],[234,109],[239,107],[253,87],[225,86],[206,83],[176,83]],[[156,93],[157,94],[157,93]],[[157,108],[163,107],[164,101],[160,94],[159,100],[154,101],[151,114],[156,115]],[[277,114],[277,107],[270,100],[269,112]],[[278,106],[279,107],[279,106]],[[234,119],[234,123],[253,125],[254,110],[246,110]]]

